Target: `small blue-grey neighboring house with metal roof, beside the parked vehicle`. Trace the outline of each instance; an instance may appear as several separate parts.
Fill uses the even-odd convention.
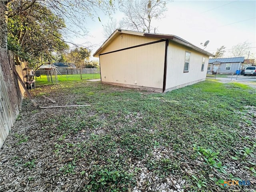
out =
[[[207,70],[218,74],[231,74],[240,70],[244,63],[244,57],[209,59]]]

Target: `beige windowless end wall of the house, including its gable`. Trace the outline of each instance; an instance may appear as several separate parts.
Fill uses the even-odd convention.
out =
[[[122,34],[102,53],[159,40]],[[129,40],[130,39],[130,40]],[[124,41],[125,40],[125,41]],[[147,88],[163,87],[165,42],[100,55],[102,82]]]

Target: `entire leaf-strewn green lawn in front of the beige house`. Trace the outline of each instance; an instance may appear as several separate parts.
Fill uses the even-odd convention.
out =
[[[91,106],[39,110],[25,99],[0,151],[4,191],[255,189],[256,93],[248,86],[206,80],[156,94],[80,81],[32,94],[41,106]]]

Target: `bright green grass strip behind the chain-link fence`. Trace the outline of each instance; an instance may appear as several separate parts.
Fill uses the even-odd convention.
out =
[[[82,74],[82,79],[100,79],[100,74]],[[54,76],[52,76],[52,80],[54,82]],[[58,75],[59,82],[74,82],[80,81],[81,76],[80,74],[74,75]],[[52,82],[48,82],[46,75],[41,75],[40,77],[36,78],[36,86],[43,86],[43,85],[51,85]]]

